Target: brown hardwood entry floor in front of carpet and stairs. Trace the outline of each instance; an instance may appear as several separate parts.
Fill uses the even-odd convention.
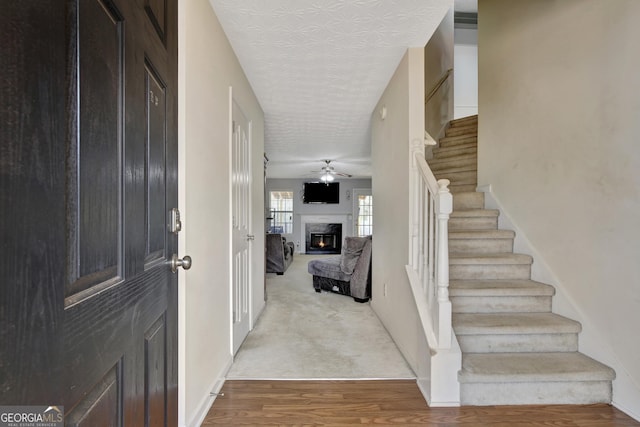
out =
[[[640,426],[609,405],[429,408],[415,381],[227,381],[203,426]]]

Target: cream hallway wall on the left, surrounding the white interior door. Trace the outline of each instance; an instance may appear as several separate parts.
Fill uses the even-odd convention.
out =
[[[252,121],[253,314],[264,306],[264,116],[207,0],[181,0],[179,49],[180,425],[199,425],[232,363],[229,86]]]

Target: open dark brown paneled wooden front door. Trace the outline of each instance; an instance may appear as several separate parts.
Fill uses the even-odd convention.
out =
[[[0,405],[177,424],[177,1],[0,13]]]

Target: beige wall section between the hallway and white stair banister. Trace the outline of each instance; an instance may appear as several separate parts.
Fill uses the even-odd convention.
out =
[[[375,215],[371,307],[415,372],[424,371],[419,364],[428,353],[405,266],[409,261],[409,148],[412,141],[424,141],[423,111],[424,49],[410,48],[371,115]]]

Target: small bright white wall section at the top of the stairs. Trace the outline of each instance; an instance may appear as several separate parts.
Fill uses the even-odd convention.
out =
[[[453,48],[453,117],[478,114],[478,30],[456,28]]]

